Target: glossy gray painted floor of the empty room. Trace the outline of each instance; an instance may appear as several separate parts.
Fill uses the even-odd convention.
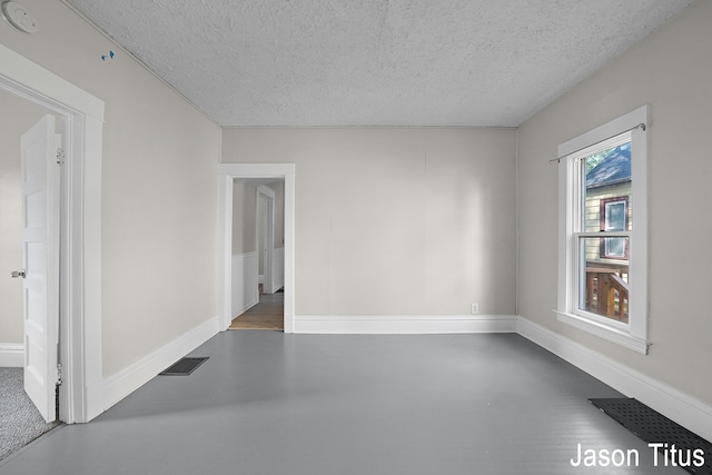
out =
[[[684,474],[593,407],[619,393],[517,335],[225,331],[0,474]],[[577,444],[640,466],[573,467]]]

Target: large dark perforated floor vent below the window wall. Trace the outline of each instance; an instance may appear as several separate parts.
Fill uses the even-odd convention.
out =
[[[591,404],[611,416],[615,422],[650,443],[666,443],[668,447],[675,445],[679,454],[688,457],[688,451],[704,451],[704,464],[700,467],[682,466],[689,473],[695,475],[712,475],[712,444],[704,438],[688,431],[680,424],[669,419],[662,414],[651,409],[643,403],[633,398],[589,399]],[[663,453],[664,448],[659,452]],[[682,452],[680,452],[682,451]]]

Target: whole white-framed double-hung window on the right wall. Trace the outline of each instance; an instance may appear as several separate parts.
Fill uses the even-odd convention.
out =
[[[643,354],[647,353],[645,123],[647,106],[558,147],[556,308],[561,321]]]

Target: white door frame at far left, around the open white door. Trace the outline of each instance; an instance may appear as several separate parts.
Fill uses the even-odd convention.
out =
[[[101,353],[101,149],[103,101],[0,44],[0,89],[60,116],[61,170],[59,418],[103,412]]]

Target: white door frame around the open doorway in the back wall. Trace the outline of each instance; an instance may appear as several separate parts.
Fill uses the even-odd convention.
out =
[[[218,311],[226,330],[233,315],[233,184],[236,178],[285,180],[285,333],[294,333],[295,164],[220,164],[218,201]]]

